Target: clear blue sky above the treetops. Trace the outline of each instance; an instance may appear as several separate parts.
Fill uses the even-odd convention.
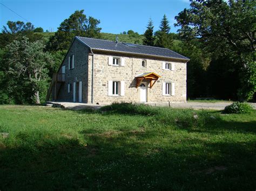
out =
[[[119,34],[133,30],[143,34],[149,18],[152,18],[154,31],[159,29],[160,20],[166,14],[171,32],[176,32],[174,17],[185,8],[189,8],[189,0],[0,0],[14,12],[0,4],[0,29],[8,20],[29,20],[35,27],[57,31],[64,19],[76,10],[84,10],[87,17],[100,20],[101,32]]]

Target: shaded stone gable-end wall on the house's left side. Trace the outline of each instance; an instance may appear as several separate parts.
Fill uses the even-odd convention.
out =
[[[72,54],[75,55],[75,68],[69,69],[69,56]],[[82,81],[82,102],[88,102],[88,54],[89,49],[75,39],[62,63],[62,66],[66,67],[65,82],[59,90],[58,101],[73,102],[73,82],[77,82],[76,101],[78,102],[78,82]],[[62,73],[62,66],[60,66],[59,73]],[[68,93],[69,83],[72,84],[70,93]]]

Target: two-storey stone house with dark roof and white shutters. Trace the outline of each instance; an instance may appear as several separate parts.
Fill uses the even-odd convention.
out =
[[[47,100],[112,102],[186,102],[189,59],[167,48],[75,37]]]

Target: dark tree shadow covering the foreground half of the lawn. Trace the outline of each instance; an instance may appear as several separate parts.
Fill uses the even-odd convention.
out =
[[[250,190],[256,186],[255,142],[176,139],[143,129],[80,133],[87,145],[75,138],[32,143],[17,137],[23,146],[0,150],[0,189]]]

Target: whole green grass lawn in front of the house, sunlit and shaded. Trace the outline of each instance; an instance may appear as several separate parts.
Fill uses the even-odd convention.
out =
[[[0,106],[0,190],[255,190],[256,111]]]

